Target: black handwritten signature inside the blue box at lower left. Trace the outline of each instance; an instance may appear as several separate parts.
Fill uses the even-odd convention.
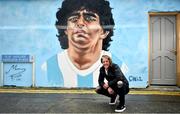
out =
[[[25,72],[25,68],[18,68],[18,65],[12,65],[9,70],[6,72],[6,75],[8,75],[12,81],[21,80],[22,73]]]

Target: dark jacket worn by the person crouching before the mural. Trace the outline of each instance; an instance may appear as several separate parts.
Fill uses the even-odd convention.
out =
[[[108,69],[108,75],[106,75],[105,68],[103,66],[100,68],[98,82],[101,87],[104,85],[104,79],[108,81],[108,85],[112,88],[117,86],[117,82],[119,80],[123,81],[124,85],[129,88],[128,80],[117,64],[112,63],[112,66]]]

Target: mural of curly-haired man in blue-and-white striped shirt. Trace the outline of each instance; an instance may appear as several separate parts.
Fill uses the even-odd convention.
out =
[[[56,13],[58,40],[64,49],[42,66],[56,87],[96,87],[102,55],[108,52],[114,30],[110,3],[106,0],[64,0]]]

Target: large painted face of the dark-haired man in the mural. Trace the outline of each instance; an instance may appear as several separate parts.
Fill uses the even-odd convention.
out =
[[[100,25],[99,16],[87,10],[80,10],[68,17],[67,30],[69,48],[78,50],[102,47],[102,39],[106,36]],[[100,43],[101,42],[101,43]]]

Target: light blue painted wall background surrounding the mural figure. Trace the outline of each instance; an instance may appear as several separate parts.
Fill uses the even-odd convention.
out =
[[[48,58],[62,51],[54,26],[61,2],[0,1],[0,56],[34,55],[36,86],[52,86],[41,67]],[[128,66],[126,77],[130,87],[144,88],[148,84],[148,12],[180,11],[180,1],[110,0],[110,4],[116,25],[109,51]]]

